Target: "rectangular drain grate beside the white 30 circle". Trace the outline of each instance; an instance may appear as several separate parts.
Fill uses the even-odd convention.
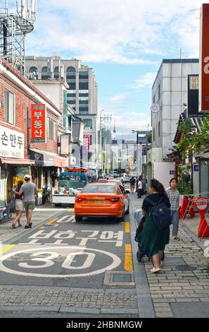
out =
[[[109,286],[134,286],[133,271],[106,271],[103,281]]]

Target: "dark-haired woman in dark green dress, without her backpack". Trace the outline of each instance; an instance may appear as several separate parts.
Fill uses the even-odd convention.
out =
[[[167,197],[164,186],[158,182],[158,180],[151,179],[149,193],[150,194],[147,197],[151,199],[153,203],[158,203],[163,196],[163,201],[161,203],[165,203],[167,207],[170,208],[170,201]],[[169,243],[170,227],[168,226],[163,230],[158,230],[150,216],[152,207],[151,203],[148,203],[146,198],[144,198],[141,209],[142,213],[146,215],[146,222],[144,223],[143,231],[139,236],[139,243],[141,251],[152,260],[153,268],[151,269],[151,273],[156,273],[160,271],[160,267],[162,267],[161,259],[163,257],[165,244]]]

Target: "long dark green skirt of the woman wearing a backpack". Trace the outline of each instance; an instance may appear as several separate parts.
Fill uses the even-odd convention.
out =
[[[165,250],[165,244],[169,243],[170,227],[164,230],[158,230],[149,215],[149,209],[146,213],[146,221],[143,230],[139,235],[139,245],[141,251],[144,252],[148,258],[158,254],[159,250]]]

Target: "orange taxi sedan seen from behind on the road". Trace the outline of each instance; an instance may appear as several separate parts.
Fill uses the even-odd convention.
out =
[[[90,183],[75,197],[76,221],[85,217],[114,217],[124,221],[125,213],[129,213],[129,196],[118,183]]]

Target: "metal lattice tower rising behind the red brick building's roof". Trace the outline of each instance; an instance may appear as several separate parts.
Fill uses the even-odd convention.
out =
[[[36,0],[5,0],[0,8],[0,55],[23,75],[25,36],[34,28],[35,13]]]

